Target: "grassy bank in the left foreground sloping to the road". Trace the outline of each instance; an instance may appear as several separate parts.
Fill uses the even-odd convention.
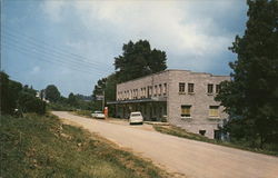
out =
[[[1,116],[0,177],[159,178],[169,175],[52,115]]]

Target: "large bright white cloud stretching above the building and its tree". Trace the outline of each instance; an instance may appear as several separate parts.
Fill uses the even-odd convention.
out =
[[[44,11],[54,20],[61,20],[61,10],[70,9],[79,16],[87,29],[102,24],[116,34],[119,43],[147,39],[152,47],[167,53],[200,59],[197,66],[208,66],[216,53],[227,50],[235,34],[225,33],[208,12],[235,13],[234,1],[47,1]],[[238,2],[237,2],[238,3]],[[202,7],[210,6],[211,7]],[[209,10],[208,9],[212,9]],[[228,19],[227,19],[228,20]],[[81,43],[77,48],[82,48]],[[175,61],[176,59],[169,59]],[[190,59],[189,59],[190,60]],[[203,67],[201,67],[203,69]]]

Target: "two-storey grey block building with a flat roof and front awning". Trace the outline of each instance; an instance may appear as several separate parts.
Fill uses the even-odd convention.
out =
[[[163,120],[190,132],[219,138],[218,126],[228,116],[215,101],[228,76],[166,70],[117,85],[117,117],[141,111],[145,120]]]

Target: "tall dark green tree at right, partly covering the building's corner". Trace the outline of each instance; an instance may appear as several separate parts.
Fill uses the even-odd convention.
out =
[[[236,37],[230,50],[231,81],[221,83],[217,100],[230,120],[226,129],[236,139],[252,142],[278,141],[278,1],[248,0],[244,37]]]

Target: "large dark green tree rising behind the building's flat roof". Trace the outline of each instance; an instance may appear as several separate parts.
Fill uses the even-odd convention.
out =
[[[122,55],[115,58],[115,69],[120,82],[162,71],[167,68],[166,52],[151,50],[147,40],[129,41],[122,47]]]

